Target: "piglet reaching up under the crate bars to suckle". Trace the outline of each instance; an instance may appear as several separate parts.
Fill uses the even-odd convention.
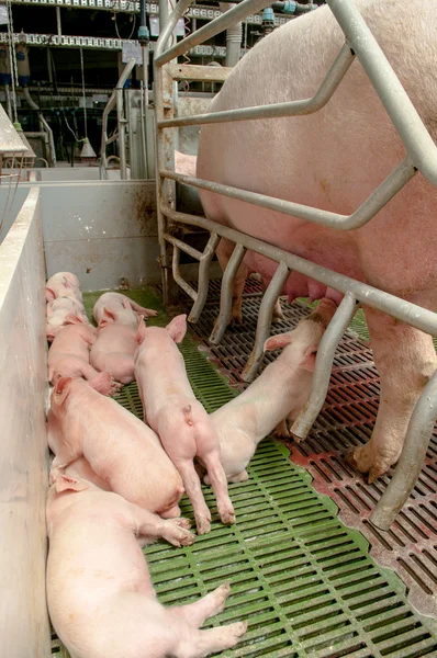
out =
[[[211,415],[229,483],[247,480],[246,466],[258,443],[276,427],[289,435],[285,419],[295,420],[310,397],[318,343],[335,310],[336,304],[324,298],[293,331],[270,337],[264,349],[284,348],[280,356],[244,393]],[[204,481],[209,484],[208,475]]]

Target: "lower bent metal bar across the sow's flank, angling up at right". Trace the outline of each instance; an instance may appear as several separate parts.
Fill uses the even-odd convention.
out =
[[[329,211],[322,211],[320,208],[294,203],[293,201],[283,201],[281,198],[276,198],[274,196],[267,196],[266,194],[259,194],[258,192],[249,192],[248,190],[242,190],[240,188],[205,181],[203,179],[184,175],[183,173],[176,173],[166,169],[160,170],[159,174],[163,178],[178,181],[186,185],[208,190],[216,194],[223,194],[223,196],[228,196],[229,198],[237,198],[262,208],[299,217],[300,219],[313,222],[320,226],[327,226],[328,228],[336,228],[339,230],[355,230],[370,222],[370,219],[372,219],[374,215],[379,213],[379,211],[416,174],[416,169],[408,159],[400,162],[389,177],[351,215],[339,215]]]

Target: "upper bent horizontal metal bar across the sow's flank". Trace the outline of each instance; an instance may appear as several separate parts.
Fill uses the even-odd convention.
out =
[[[338,53],[318,90],[311,99],[288,101],[285,103],[272,103],[269,105],[257,105],[255,107],[239,107],[237,110],[225,110],[222,112],[209,112],[205,114],[194,114],[192,116],[181,116],[158,122],[157,125],[160,128],[169,128],[171,126],[192,126],[312,114],[326,105],[346,72],[349,70],[354,59],[355,55],[350,49],[350,44],[346,43]]]

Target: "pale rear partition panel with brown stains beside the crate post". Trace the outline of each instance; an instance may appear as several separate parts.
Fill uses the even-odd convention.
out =
[[[160,271],[154,181],[20,183],[1,236],[32,185],[41,193],[47,275],[77,274],[83,291],[157,283]],[[0,209],[7,204],[0,190]],[[12,203],[13,198],[13,203]]]

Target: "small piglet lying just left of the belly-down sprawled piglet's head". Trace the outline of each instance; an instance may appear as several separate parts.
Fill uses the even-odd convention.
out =
[[[108,311],[105,311],[107,314]],[[97,370],[108,371],[116,382],[130,384],[134,379],[134,354],[138,347],[136,334],[143,316],[131,310],[132,322],[110,321],[103,315],[99,322],[97,340],[91,348],[90,363]]]

